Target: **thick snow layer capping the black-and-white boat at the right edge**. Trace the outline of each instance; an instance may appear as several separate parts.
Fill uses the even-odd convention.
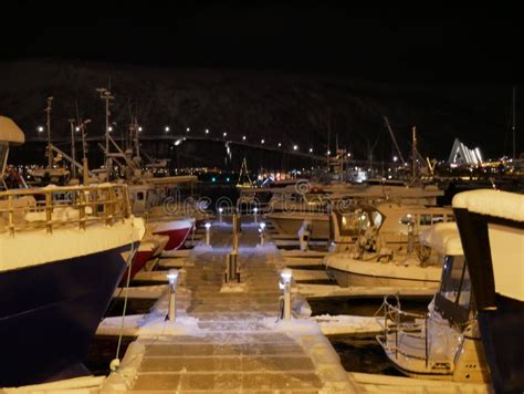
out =
[[[516,193],[488,189],[464,191],[453,197],[453,208],[524,221],[524,195]]]

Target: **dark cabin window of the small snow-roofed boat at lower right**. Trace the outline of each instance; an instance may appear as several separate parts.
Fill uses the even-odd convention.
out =
[[[436,309],[452,323],[469,319],[471,282],[463,256],[447,256],[442,269],[440,291],[436,296]]]

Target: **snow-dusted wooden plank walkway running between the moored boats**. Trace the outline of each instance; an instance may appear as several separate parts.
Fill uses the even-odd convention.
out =
[[[157,329],[129,345],[102,392],[356,392],[317,323],[277,319],[283,261],[274,245],[256,247],[255,226],[242,228],[242,284],[223,284],[231,226],[213,225],[213,248],[199,246],[187,257],[192,265],[184,268],[177,294],[190,297],[177,304],[177,322],[164,321],[164,297],[153,313],[160,318]],[[298,318],[304,304],[295,296]]]

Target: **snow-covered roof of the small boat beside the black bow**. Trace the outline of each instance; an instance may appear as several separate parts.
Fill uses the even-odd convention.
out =
[[[462,242],[455,222],[442,222],[431,226],[420,234],[420,242],[441,255],[463,256]]]

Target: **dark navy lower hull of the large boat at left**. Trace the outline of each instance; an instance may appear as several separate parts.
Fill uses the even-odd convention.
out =
[[[0,273],[0,386],[88,372],[82,361],[130,249],[129,243]]]

